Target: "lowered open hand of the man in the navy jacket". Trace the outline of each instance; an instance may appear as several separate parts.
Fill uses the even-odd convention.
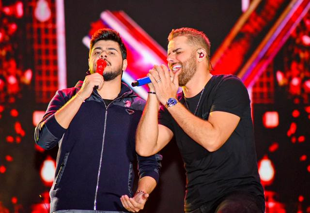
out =
[[[121,197],[124,208],[129,212],[139,212],[144,208],[144,204],[149,197],[149,194],[139,192],[133,198],[129,198],[127,195]]]

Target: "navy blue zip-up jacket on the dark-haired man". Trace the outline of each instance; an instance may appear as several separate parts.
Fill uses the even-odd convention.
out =
[[[122,195],[133,196],[133,162],[139,176],[158,182],[161,156],[142,157],[135,152],[135,133],[145,101],[122,83],[118,97],[108,106],[96,90],[80,106],[68,129],[55,112],[81,88],[56,92],[42,121],[35,128],[35,142],[44,149],[59,145],[50,212],[57,210],[126,211]]]

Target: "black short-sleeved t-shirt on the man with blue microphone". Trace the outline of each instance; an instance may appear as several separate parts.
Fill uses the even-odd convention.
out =
[[[194,114],[201,92],[187,98]],[[177,95],[185,104],[183,92]],[[215,152],[209,152],[190,138],[161,106],[158,122],[174,134],[186,169],[185,210],[214,203],[233,191],[247,191],[263,197],[263,187],[257,169],[256,151],[248,91],[239,78],[232,75],[212,76],[204,87],[196,116],[208,120],[212,111],[224,111],[240,117],[236,129]]]

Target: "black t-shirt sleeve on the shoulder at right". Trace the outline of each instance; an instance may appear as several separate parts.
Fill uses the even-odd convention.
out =
[[[242,117],[249,103],[243,82],[236,76],[227,76],[218,85],[210,112],[224,111]]]

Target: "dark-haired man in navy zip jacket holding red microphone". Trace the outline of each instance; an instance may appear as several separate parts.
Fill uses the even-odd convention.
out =
[[[39,146],[59,144],[50,212],[138,212],[158,182],[161,160],[135,152],[145,101],[121,82],[127,52],[118,32],[96,31],[90,47],[84,81],[57,91],[35,129]],[[99,59],[107,62],[103,76],[95,73]],[[137,158],[140,180],[133,193]]]

